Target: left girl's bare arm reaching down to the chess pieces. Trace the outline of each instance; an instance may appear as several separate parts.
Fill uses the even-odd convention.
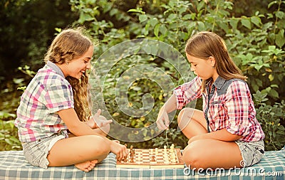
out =
[[[83,135],[98,135],[105,139],[107,144],[110,144],[110,151],[117,155],[117,159],[123,159],[123,157],[128,155],[128,150],[123,144],[119,144],[118,142],[111,141],[110,139],[98,134],[96,129],[91,129],[86,123],[81,122],[78,119],[76,111],[73,108],[69,108],[66,110],[58,111],[58,115],[61,117],[69,131],[76,136]]]

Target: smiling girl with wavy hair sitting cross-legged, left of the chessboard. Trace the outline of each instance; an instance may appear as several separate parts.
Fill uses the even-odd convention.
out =
[[[109,152],[128,154],[106,138],[111,120],[91,116],[88,75],[93,42],[84,28],[69,28],[54,38],[38,70],[21,96],[16,127],[26,160],[33,166],[69,166],[90,171]]]

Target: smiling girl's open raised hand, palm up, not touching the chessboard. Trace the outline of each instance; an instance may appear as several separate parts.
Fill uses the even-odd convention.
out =
[[[105,127],[106,125],[109,125],[112,120],[107,120],[105,117],[101,116],[101,110],[99,109],[95,115],[91,116],[90,119],[87,122],[87,125],[91,127],[92,129],[97,129],[100,127]]]

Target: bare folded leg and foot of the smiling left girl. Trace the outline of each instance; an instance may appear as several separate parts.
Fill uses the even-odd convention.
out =
[[[88,135],[61,139],[48,154],[48,166],[69,166],[90,171],[95,163],[103,161],[110,152],[110,145],[100,136]]]

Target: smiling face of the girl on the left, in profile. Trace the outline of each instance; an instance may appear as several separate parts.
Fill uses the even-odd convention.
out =
[[[83,75],[86,70],[90,69],[93,51],[93,46],[90,46],[86,53],[68,62],[66,65],[66,72],[63,72],[64,75],[66,77],[71,76],[73,78],[80,79],[81,75]]]

